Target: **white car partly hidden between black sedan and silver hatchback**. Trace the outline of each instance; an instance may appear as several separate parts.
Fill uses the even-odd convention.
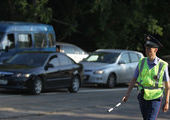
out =
[[[80,47],[70,43],[56,42],[56,46],[60,48],[60,52],[65,53],[67,56],[72,58],[76,63],[80,62],[89,55]]]

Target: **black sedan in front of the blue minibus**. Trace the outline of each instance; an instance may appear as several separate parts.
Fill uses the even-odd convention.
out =
[[[45,89],[68,88],[77,92],[82,65],[62,53],[21,52],[0,65],[0,87],[27,89],[40,94]]]

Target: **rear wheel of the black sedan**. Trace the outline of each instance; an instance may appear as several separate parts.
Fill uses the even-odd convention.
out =
[[[73,77],[71,87],[68,88],[69,92],[77,93],[80,88],[80,78],[78,76]]]

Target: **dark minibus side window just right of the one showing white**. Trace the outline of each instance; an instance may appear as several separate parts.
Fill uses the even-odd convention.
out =
[[[36,48],[45,48],[47,47],[46,34],[44,33],[35,33],[34,42]]]

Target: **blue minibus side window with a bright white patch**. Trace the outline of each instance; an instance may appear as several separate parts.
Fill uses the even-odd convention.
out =
[[[18,34],[18,48],[32,47],[31,34]]]

